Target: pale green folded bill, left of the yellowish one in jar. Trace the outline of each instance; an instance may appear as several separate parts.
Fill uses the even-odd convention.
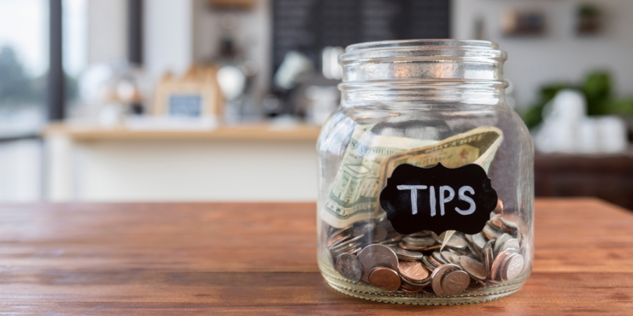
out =
[[[354,129],[343,161],[331,187],[321,218],[335,228],[344,228],[360,220],[376,218],[383,160],[397,152],[437,143],[371,133],[375,124]]]

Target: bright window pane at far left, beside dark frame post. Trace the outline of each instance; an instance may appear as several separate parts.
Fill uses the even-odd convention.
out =
[[[46,0],[0,1],[0,137],[44,122],[48,16]]]

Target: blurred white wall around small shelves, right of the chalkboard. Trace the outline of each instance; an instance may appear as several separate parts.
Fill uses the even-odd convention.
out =
[[[575,35],[575,10],[581,0],[454,0],[452,36],[475,36],[475,21],[485,21],[488,39],[508,52],[504,68],[513,82],[519,106],[533,102],[539,87],[551,81],[576,83],[591,70],[613,74],[616,91],[633,95],[633,1],[594,0],[606,15],[605,29],[593,37]],[[504,8],[540,8],[546,13],[548,31],[543,37],[503,37]]]

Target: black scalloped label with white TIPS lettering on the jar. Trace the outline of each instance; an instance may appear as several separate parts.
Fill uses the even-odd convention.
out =
[[[497,191],[477,164],[459,168],[401,164],[388,178],[380,202],[387,219],[402,235],[421,230],[476,234],[497,206]]]

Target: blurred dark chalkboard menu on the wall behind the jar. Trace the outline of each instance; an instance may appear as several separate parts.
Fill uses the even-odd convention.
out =
[[[326,46],[388,39],[446,39],[449,0],[272,0],[276,70],[288,51],[320,66]]]

